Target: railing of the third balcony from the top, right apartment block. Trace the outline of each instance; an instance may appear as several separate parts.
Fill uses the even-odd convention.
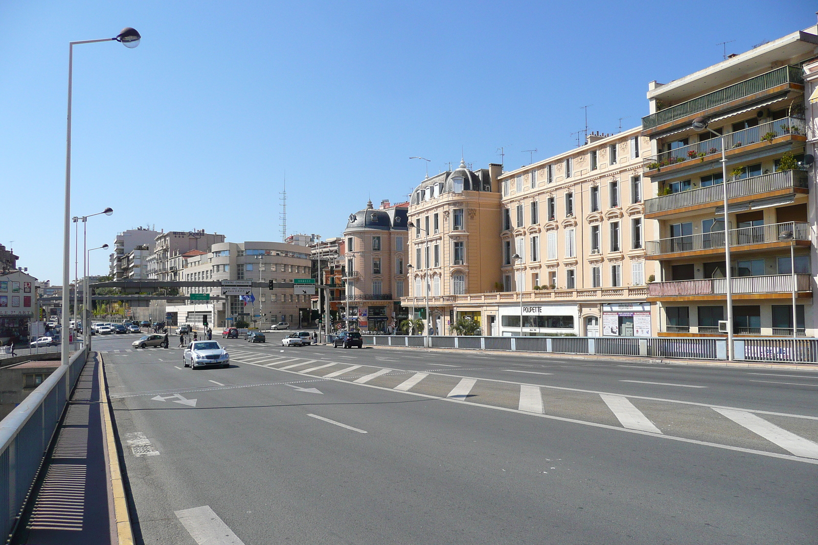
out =
[[[787,170],[771,172],[761,176],[752,176],[743,180],[727,182],[727,198],[735,199],[747,195],[762,194],[769,191],[807,188],[807,172]],[[645,213],[667,212],[678,208],[687,208],[698,204],[716,203],[724,199],[721,184],[699,187],[690,191],[681,191],[645,200]]]

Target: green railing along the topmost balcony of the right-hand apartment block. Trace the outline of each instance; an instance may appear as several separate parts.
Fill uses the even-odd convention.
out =
[[[646,115],[642,118],[642,130],[646,131],[665,123],[671,123],[676,119],[686,118],[706,109],[737,101],[785,83],[803,83],[802,74],[803,70],[798,66],[782,66],[766,74],[745,79],[743,82],[734,83],[718,91],[709,92],[707,95],[698,96],[690,101],[661,109],[655,114]]]

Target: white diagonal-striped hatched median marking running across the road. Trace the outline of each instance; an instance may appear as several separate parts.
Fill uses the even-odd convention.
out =
[[[291,353],[290,353],[291,354]],[[692,401],[231,351],[237,363],[566,422],[818,463],[818,418]],[[408,375],[408,376],[407,376]]]

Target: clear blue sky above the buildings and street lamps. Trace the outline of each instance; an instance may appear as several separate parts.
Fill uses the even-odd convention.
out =
[[[506,168],[635,127],[651,80],[814,25],[776,2],[38,2],[0,0],[0,243],[61,282],[68,42],[133,26],[142,44],[75,48],[73,215],[116,232],[336,236],[457,163]],[[107,270],[97,251],[92,273]],[[73,278],[73,274],[72,274]]]

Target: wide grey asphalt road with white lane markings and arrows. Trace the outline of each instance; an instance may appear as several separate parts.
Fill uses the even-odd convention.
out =
[[[143,543],[816,541],[818,373],[281,336],[95,339]]]

